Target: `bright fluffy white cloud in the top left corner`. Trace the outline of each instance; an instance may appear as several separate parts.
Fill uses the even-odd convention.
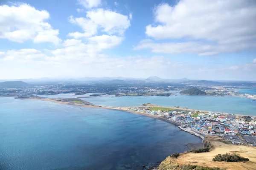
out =
[[[49,13],[37,10],[25,3],[14,6],[0,6],[0,39],[15,42],[33,40],[35,43],[52,42],[58,45],[58,30],[45,22]]]

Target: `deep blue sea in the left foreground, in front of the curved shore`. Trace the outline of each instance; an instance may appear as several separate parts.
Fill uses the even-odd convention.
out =
[[[191,142],[134,113],[0,97],[0,170],[138,170]]]

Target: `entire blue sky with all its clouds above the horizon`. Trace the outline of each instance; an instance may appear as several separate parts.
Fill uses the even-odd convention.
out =
[[[256,1],[0,0],[0,73],[256,81]]]

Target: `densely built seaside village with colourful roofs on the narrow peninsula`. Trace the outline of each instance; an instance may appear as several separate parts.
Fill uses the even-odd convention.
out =
[[[159,116],[197,136],[218,135],[233,144],[256,146],[254,116],[191,111],[179,107],[135,107],[128,110]]]

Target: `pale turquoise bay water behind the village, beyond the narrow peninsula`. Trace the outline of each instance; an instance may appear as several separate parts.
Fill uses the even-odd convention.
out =
[[[151,103],[162,106],[179,106],[205,111],[256,115],[256,101],[236,96],[139,96],[82,98],[96,105],[128,107]]]

